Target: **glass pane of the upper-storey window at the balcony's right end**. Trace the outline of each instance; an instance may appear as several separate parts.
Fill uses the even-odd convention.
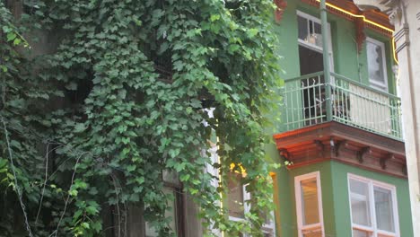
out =
[[[383,75],[383,56],[381,46],[366,41],[369,79],[374,83],[385,84]]]

